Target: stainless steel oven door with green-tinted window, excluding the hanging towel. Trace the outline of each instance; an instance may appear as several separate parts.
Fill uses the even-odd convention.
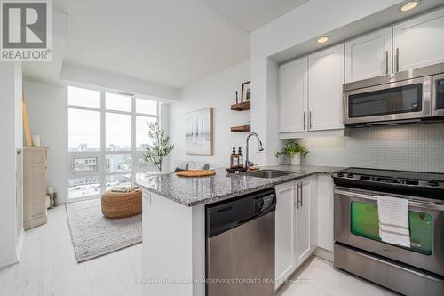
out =
[[[444,205],[410,199],[410,248],[379,237],[377,192],[335,188],[335,241],[444,276]]]

